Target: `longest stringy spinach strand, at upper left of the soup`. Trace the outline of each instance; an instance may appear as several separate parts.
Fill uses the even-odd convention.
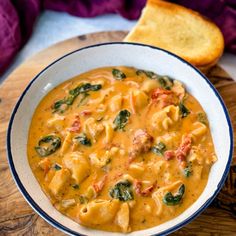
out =
[[[90,84],[90,83],[85,83],[85,84],[80,84],[74,89],[71,89],[69,91],[69,95],[61,100],[56,101],[53,106],[53,112],[64,112],[68,106],[72,105],[74,103],[74,100],[80,95],[80,94],[85,94],[84,98],[88,96],[88,92],[90,91],[98,91],[102,88],[101,84]],[[83,98],[82,98],[83,99]],[[82,100],[81,99],[81,100]],[[62,105],[65,107],[62,108]]]

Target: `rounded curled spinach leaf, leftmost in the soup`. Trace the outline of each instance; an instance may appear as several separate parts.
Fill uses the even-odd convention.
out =
[[[54,153],[60,146],[60,137],[56,135],[47,135],[39,140],[35,150],[41,157],[46,157]]]

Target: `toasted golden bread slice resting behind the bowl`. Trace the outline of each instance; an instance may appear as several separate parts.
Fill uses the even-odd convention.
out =
[[[199,13],[177,4],[148,0],[133,30],[124,39],[166,49],[206,69],[224,50],[219,28]]]

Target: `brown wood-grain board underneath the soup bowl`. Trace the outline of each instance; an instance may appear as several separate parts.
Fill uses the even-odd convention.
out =
[[[81,35],[36,54],[0,85],[0,235],[64,235],[35,213],[18,191],[6,156],[6,130],[11,111],[26,85],[44,67],[75,49],[102,42],[122,41],[127,32]],[[236,82],[219,66],[208,78],[223,97],[236,132]],[[26,111],[27,112],[27,111]],[[219,124],[220,125],[220,124]],[[236,136],[236,135],[235,135]],[[173,235],[236,235],[236,156],[224,188],[200,216]]]

